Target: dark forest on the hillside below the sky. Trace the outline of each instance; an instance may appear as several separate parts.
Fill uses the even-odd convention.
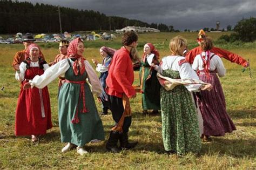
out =
[[[68,32],[116,30],[125,26],[146,26],[160,31],[174,31],[172,25],[148,24],[136,19],[106,16],[104,13],[92,10],[60,7],[60,16],[62,30]],[[48,33],[59,31],[58,6],[0,0],[0,33]]]

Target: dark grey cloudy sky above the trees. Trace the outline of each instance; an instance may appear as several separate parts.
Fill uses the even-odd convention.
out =
[[[22,2],[23,0],[19,0]],[[232,28],[242,18],[256,17],[256,0],[31,0],[31,3],[94,10],[106,16],[173,25],[178,30]],[[132,25],[131,25],[132,26]]]

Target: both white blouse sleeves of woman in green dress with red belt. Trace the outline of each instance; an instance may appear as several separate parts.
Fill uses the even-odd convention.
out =
[[[73,61],[69,59],[71,62],[71,65],[73,64]],[[100,96],[100,94],[103,91],[102,85],[100,84],[99,78],[97,77],[97,74],[93,70],[90,63],[85,60],[85,70],[88,75],[88,81],[91,84],[92,92],[95,93],[97,96]],[[33,80],[30,80],[31,87],[36,86],[38,89],[43,89],[46,85],[51,83],[51,81],[55,80],[58,76],[65,77],[65,72],[69,70],[69,62],[68,59],[61,60],[60,62],[56,63],[55,65],[49,67],[49,69],[45,70],[44,74],[41,76],[36,76],[33,78]]]

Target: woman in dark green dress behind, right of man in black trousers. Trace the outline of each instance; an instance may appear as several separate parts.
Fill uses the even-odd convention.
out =
[[[160,84],[157,80],[157,71],[151,65],[159,65],[159,52],[153,44],[144,45],[143,57],[139,70],[140,87],[142,89],[143,113],[153,110],[157,114],[160,110]]]

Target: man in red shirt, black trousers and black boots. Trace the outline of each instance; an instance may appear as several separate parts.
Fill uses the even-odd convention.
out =
[[[132,122],[129,98],[136,97],[132,86],[134,74],[131,49],[136,48],[137,41],[136,33],[132,31],[124,33],[123,46],[114,53],[109,67],[109,75],[106,78],[106,93],[109,95],[110,110],[116,123],[110,132],[106,149],[114,153],[120,152],[120,148],[117,146],[118,140],[120,140],[122,149],[131,149],[138,143],[128,142],[127,134]]]

